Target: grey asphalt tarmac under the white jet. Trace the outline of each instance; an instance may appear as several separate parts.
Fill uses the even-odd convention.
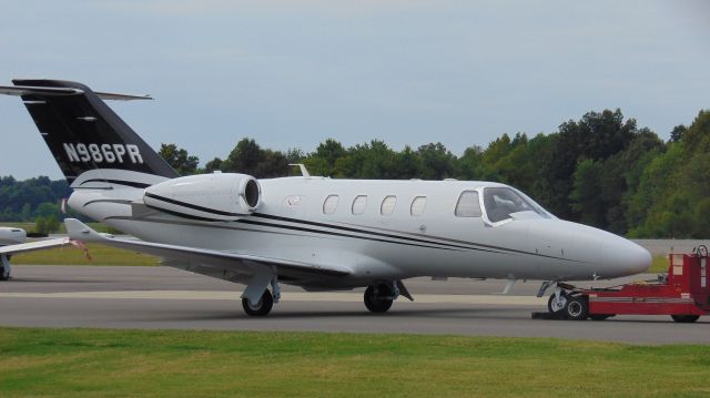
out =
[[[501,280],[415,278],[406,285],[415,302],[400,298],[387,314],[368,313],[362,289],[306,293],[284,286],[282,302],[268,316],[250,317],[239,298],[243,285],[179,269],[19,265],[13,268],[12,279],[0,282],[0,325],[710,343],[710,317],[701,317],[696,324],[676,324],[668,316],[618,316],[604,322],[531,319],[530,313],[545,310],[547,303],[547,297],[535,297],[537,283],[519,282],[509,295],[499,294],[505,286]]]

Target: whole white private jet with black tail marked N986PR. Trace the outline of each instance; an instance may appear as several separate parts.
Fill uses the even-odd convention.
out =
[[[557,283],[637,274],[642,247],[558,220],[520,191],[478,181],[367,181],[239,173],[181,177],[93,92],[55,80],[14,80],[19,95],[70,182],[77,212],[138,237],[99,234],[65,220],[73,239],[156,255],[164,264],[246,285],[242,306],[266,315],[280,283],[306,290],[364,287],[384,313],[412,299],[416,276]]]

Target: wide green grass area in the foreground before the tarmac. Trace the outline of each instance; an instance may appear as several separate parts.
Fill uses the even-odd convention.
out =
[[[0,328],[2,397],[707,397],[709,368],[690,345]]]

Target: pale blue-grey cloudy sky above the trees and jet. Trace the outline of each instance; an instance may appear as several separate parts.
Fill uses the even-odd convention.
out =
[[[462,154],[621,109],[668,139],[710,109],[707,1],[0,0],[0,85],[151,94],[110,106],[201,163],[242,137],[315,150],[383,140]],[[0,175],[60,178],[0,95]]]

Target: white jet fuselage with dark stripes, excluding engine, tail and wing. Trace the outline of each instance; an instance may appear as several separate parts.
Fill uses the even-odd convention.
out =
[[[611,278],[642,272],[650,264],[640,246],[558,220],[504,184],[283,177],[260,180],[260,185],[256,211],[229,222],[146,208],[141,205],[144,190],[133,187],[79,188],[69,204],[150,242],[338,264],[352,271],[347,280],[323,280],[324,288],[415,276]],[[535,211],[494,222],[484,200],[486,188],[515,191]],[[474,210],[471,216],[462,207],[467,216],[457,215],[464,192],[477,193],[479,213]]]

